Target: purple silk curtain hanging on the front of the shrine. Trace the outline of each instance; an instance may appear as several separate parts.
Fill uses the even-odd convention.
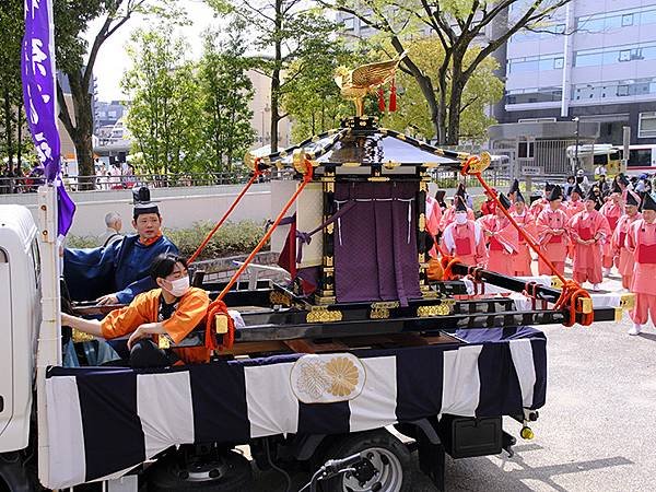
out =
[[[355,203],[335,233],[338,302],[421,297],[415,183],[338,183],[339,207]]]

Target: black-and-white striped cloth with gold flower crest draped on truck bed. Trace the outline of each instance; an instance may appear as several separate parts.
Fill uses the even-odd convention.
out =
[[[48,483],[65,488],[118,477],[176,444],[341,434],[440,413],[517,415],[544,405],[541,331],[455,335],[453,343],[150,371],[51,367]]]

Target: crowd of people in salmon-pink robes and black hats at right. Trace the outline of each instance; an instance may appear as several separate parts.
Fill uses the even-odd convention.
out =
[[[647,183],[646,176],[630,179],[624,174],[589,183],[578,173],[563,187],[547,183],[542,196],[527,202],[515,180],[507,195],[493,188],[485,194],[478,219],[460,184],[449,207],[426,200],[426,229],[435,239],[431,254],[514,277],[553,274],[552,268],[564,274],[570,260],[573,279],[596,292],[617,269],[622,286],[636,294],[629,332],[637,335],[648,314],[652,323],[656,319],[656,282],[648,281],[656,274],[656,201]],[[518,229],[548,261],[531,251]]]

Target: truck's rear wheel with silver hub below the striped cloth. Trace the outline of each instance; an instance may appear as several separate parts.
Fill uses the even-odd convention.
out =
[[[358,473],[345,473],[321,483],[324,492],[408,492],[411,490],[410,452],[389,432],[375,431],[349,434],[338,441],[320,457],[321,466],[328,459],[345,458],[364,453],[373,467]]]

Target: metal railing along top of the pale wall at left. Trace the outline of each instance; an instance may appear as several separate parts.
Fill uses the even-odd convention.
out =
[[[262,177],[261,180],[268,180]],[[139,186],[149,188],[178,188],[186,186],[239,185],[248,181],[248,174],[242,173],[197,173],[197,174],[139,174],[128,176],[65,176],[63,184],[69,191],[82,190],[91,183],[93,190],[131,189]],[[0,194],[36,192],[44,183],[42,176],[0,177]]]

